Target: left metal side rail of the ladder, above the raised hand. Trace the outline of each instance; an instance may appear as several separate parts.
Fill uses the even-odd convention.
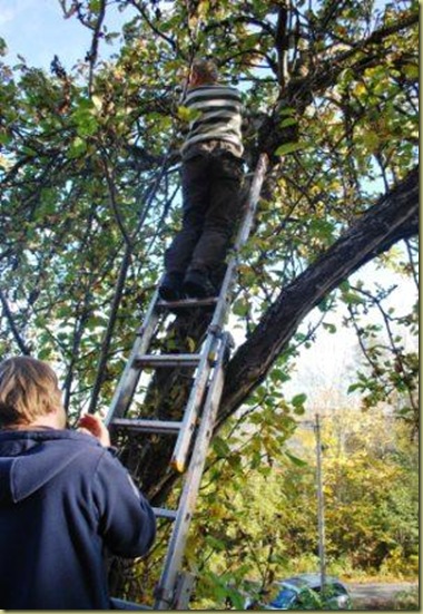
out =
[[[156,310],[158,296],[158,289],[156,289],[148,306],[144,324],[140,329],[140,333],[137,334],[137,338],[134,342],[130,355],[127,360],[124,372],[120,377],[119,383],[116,388],[114,398],[105,418],[105,422],[107,426],[110,423],[112,418],[121,418],[122,416],[125,416],[134,397],[135,389],[140,378],[140,369],[135,368],[135,359],[137,358],[137,355],[147,352],[151,337],[155,332],[155,328],[159,318]]]

